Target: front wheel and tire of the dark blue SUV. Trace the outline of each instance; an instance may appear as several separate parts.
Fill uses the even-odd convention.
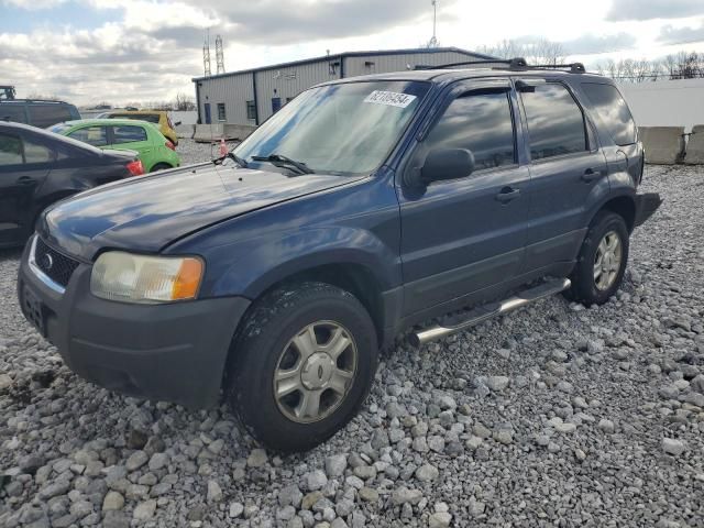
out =
[[[333,344],[340,352],[321,351]],[[366,399],[378,361],[376,328],[349,292],[294,284],[255,302],[231,356],[227,397],[245,428],[270,449],[307,451],[344,427]]]

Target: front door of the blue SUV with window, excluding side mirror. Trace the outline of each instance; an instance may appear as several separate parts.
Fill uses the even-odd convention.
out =
[[[520,271],[528,216],[527,166],[518,163],[517,101],[506,80],[459,85],[406,170],[431,151],[466,148],[472,174],[408,188],[400,201],[405,315],[459,301]]]

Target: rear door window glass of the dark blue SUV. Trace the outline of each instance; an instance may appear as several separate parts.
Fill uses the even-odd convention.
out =
[[[564,86],[538,85],[520,97],[534,161],[587,150],[584,114]]]

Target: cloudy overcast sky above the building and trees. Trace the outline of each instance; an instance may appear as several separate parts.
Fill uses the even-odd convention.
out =
[[[205,31],[228,72],[359,50],[417,47],[430,0],[0,0],[0,85],[77,105],[193,95]],[[574,59],[704,52],[704,0],[440,0],[442,46],[560,42]]]

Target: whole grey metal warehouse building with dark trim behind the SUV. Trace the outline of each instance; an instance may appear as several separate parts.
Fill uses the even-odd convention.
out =
[[[199,123],[257,125],[298,94],[319,82],[402,72],[416,65],[491,59],[457,47],[351,52],[255,69],[198,77]]]

